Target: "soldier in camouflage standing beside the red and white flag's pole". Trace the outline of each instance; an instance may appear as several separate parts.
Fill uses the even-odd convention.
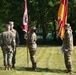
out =
[[[30,32],[27,35],[27,44],[29,48],[30,59],[32,62],[33,70],[36,70],[35,54],[36,54],[36,48],[37,48],[37,44],[36,44],[37,36],[36,36],[35,30],[36,30],[35,27],[31,27]]]

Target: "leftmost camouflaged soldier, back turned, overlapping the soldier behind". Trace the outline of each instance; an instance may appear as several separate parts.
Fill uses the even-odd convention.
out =
[[[1,49],[3,52],[5,70],[12,69],[13,47],[14,35],[10,31],[10,25],[7,25],[6,31],[1,33]]]

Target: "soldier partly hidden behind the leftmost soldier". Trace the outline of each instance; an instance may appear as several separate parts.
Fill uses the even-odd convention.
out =
[[[14,50],[13,50],[13,58],[12,58],[12,68],[15,68],[15,62],[16,62],[16,47],[19,45],[19,35],[18,32],[13,28],[14,27],[14,22],[10,21],[10,30],[14,33]]]

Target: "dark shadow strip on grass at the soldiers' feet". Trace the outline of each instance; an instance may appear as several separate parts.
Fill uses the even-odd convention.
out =
[[[48,68],[36,68],[36,70],[32,70],[31,67],[17,67],[15,68],[17,71],[33,71],[33,72],[52,72],[52,73],[64,73],[64,70],[61,69],[48,69]]]

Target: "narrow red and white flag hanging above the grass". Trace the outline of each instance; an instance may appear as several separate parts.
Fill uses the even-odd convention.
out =
[[[27,13],[27,1],[24,0],[24,14],[23,14],[23,31],[28,31],[28,13]]]

